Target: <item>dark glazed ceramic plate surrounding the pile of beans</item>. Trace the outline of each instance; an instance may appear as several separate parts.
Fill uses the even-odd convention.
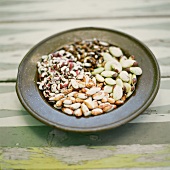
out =
[[[121,107],[96,117],[68,116],[51,107],[39,92],[36,84],[36,63],[42,55],[54,52],[66,44],[93,38],[117,45],[127,53],[135,55],[143,74],[138,79],[136,92]],[[52,35],[35,45],[19,66],[16,90],[25,109],[41,122],[64,130],[92,132],[120,126],[141,114],[154,100],[159,83],[158,63],[143,43],[119,31],[88,27]]]

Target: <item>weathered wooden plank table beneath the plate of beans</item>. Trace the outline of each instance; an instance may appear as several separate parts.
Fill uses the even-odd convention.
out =
[[[155,54],[161,85],[135,120],[97,133],[48,127],[21,106],[17,68],[42,39],[70,28],[117,29]],[[0,169],[170,169],[169,0],[0,1]]]

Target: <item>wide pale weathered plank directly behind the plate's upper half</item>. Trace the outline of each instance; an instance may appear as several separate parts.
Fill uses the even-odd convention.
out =
[[[69,28],[82,26],[101,27],[102,25],[107,28],[121,30],[143,41],[151,48],[158,59],[162,76],[170,76],[169,18],[133,19],[133,22],[130,19],[122,19],[121,22],[116,19],[87,21],[60,21],[55,22],[55,24],[54,22],[0,24],[0,81],[16,80],[17,67],[24,55],[42,39]]]

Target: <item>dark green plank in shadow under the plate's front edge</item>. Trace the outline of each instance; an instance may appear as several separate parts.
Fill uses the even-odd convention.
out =
[[[170,143],[170,123],[125,124],[96,133],[74,133],[48,126],[1,127],[1,147],[107,146]]]

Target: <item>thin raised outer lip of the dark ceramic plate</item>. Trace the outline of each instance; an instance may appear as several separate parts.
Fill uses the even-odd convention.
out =
[[[78,129],[78,128],[75,128],[75,127],[70,127],[70,126],[63,126],[61,124],[54,124],[53,122],[49,122],[47,121],[46,119],[44,119],[43,117],[41,117],[40,115],[38,115],[36,112],[34,112],[32,110],[32,108],[30,108],[28,105],[27,105],[27,102],[25,101],[25,99],[23,98],[22,96],[22,93],[20,91],[20,88],[19,88],[19,74],[20,74],[20,69],[22,67],[22,64],[24,62],[24,60],[29,56],[29,54],[34,50],[36,49],[39,45],[43,44],[44,42],[48,41],[49,39],[55,37],[55,36],[58,36],[58,35],[61,35],[61,34],[64,34],[64,33],[67,33],[67,32],[71,32],[71,31],[77,31],[77,30],[87,30],[87,29],[92,29],[92,30],[104,30],[104,31],[109,31],[109,32],[114,32],[114,33],[118,33],[118,34],[121,34],[121,35],[124,35],[126,37],[129,37],[131,38],[132,40],[135,40],[135,42],[138,42],[141,46],[143,46],[146,50],[147,50],[147,53],[149,52],[150,55],[152,56],[152,59],[154,61],[154,65],[156,66],[155,67],[155,70],[156,70],[156,73],[157,73],[157,81],[156,81],[156,84],[155,84],[155,88],[152,89],[153,93],[150,95],[150,98],[148,99],[148,101],[146,101],[144,103],[144,105],[142,105],[139,110],[137,110],[134,114],[131,114],[130,116],[128,117],[125,117],[124,119],[121,119],[117,122],[114,122],[113,124],[107,124],[107,125],[104,125],[104,126],[99,126],[99,127],[94,127],[93,129],[91,128],[81,128],[81,129]],[[124,33],[124,32],[121,32],[121,31],[118,31],[118,30],[115,30],[115,29],[108,29],[108,28],[102,28],[102,27],[79,27],[79,28],[73,28],[73,29],[69,29],[69,30],[65,30],[65,31],[62,31],[62,32],[59,32],[59,33],[56,33],[56,34],[53,34],[43,40],[41,40],[39,43],[37,43],[36,45],[34,45],[27,53],[26,55],[24,56],[24,58],[22,59],[22,61],[20,62],[19,64],[19,67],[18,67],[18,73],[17,73],[17,81],[16,81],[16,93],[18,95],[18,98],[21,102],[21,104],[24,106],[24,108],[33,116],[35,117],[36,119],[38,119],[39,121],[47,124],[47,125],[50,125],[50,126],[53,126],[55,128],[59,128],[59,129],[62,129],[62,130],[67,130],[67,131],[74,131],[74,132],[96,132],[96,131],[102,131],[102,130],[108,130],[108,129],[111,129],[111,128],[116,128],[120,125],[123,125],[131,120],[133,120],[134,118],[136,118],[137,116],[139,116],[143,111],[145,111],[149,105],[152,103],[152,101],[154,100],[154,98],[156,97],[157,95],[157,92],[159,90],[159,86],[160,86],[160,69],[159,69],[159,65],[158,65],[158,62],[156,60],[156,57],[154,56],[154,54],[152,53],[152,51],[143,43],[141,42],[140,40],[138,40],[137,38],[127,34],[127,33]]]

